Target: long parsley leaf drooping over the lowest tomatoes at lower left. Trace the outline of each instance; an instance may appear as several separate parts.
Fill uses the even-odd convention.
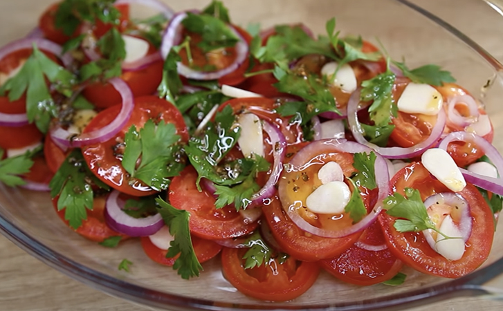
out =
[[[164,223],[170,227],[170,234],[174,240],[170,242],[170,248],[167,249],[166,258],[176,258],[173,269],[178,270],[182,279],[190,279],[192,276],[199,276],[203,270],[201,263],[197,261],[192,239],[190,238],[189,217],[190,213],[185,210],[176,209],[161,198],[156,198],[158,211],[163,216]]]

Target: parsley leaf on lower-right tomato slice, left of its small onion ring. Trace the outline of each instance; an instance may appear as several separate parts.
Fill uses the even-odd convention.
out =
[[[405,188],[405,196],[399,193],[388,196],[384,199],[384,209],[390,216],[404,218],[394,223],[398,232],[419,232],[426,229],[437,231],[417,189]]]

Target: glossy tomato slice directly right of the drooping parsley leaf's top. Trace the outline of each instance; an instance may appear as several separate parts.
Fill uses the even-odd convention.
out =
[[[185,167],[180,176],[173,178],[168,192],[169,201],[174,207],[190,212],[189,227],[192,234],[218,240],[236,238],[255,230],[257,222],[247,223],[235,207],[216,209],[215,198],[206,191],[199,192],[196,179],[194,167]]]

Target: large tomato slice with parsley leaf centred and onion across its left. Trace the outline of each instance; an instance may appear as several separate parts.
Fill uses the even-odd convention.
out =
[[[84,133],[101,129],[109,124],[120,111],[120,106],[105,109],[96,115],[84,129]],[[140,180],[129,177],[129,173],[122,167],[122,153],[116,154],[114,150],[120,149],[124,142],[125,133],[131,125],[140,129],[149,119],[164,120],[176,126],[176,133],[181,136],[181,141],[188,141],[188,131],[183,117],[173,104],[156,96],[137,97],[135,107],[129,121],[124,128],[113,138],[100,144],[92,144],[82,148],[82,154],[89,168],[95,176],[104,183],[118,191],[131,196],[147,196],[156,191],[145,185]]]

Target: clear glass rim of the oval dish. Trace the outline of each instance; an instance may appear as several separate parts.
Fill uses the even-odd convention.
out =
[[[433,15],[428,10],[408,0],[394,0],[404,6],[423,15],[430,21],[437,23],[459,40],[464,42],[469,48],[475,51],[488,64],[494,68],[496,73],[503,72],[503,65],[491,56],[482,46],[457,30],[443,19]],[[491,0],[484,0],[492,6]],[[80,281],[97,290],[101,290],[112,296],[117,296],[135,303],[149,305],[154,308],[169,308],[170,310],[306,310],[305,305],[286,305],[282,303],[273,303],[271,305],[253,305],[250,303],[226,303],[223,301],[212,301],[209,299],[190,299],[185,296],[168,294],[148,288],[143,288],[120,279],[115,279],[107,274],[92,270],[76,261],[73,261],[58,252],[54,252],[50,247],[39,243],[35,238],[26,234],[22,229],[13,225],[6,218],[0,217],[0,232],[6,236],[12,243],[23,249],[28,254],[39,259],[46,265],[53,267],[72,279]],[[309,310],[401,310],[412,308],[425,303],[432,303],[445,299],[452,299],[460,296],[479,296],[491,294],[484,283],[495,279],[503,273],[503,258],[495,261],[491,265],[477,270],[459,279],[434,285],[428,288],[421,288],[403,292],[400,294],[390,294],[378,299],[367,299],[363,301],[345,302],[345,303],[324,303],[318,305],[309,305]]]

